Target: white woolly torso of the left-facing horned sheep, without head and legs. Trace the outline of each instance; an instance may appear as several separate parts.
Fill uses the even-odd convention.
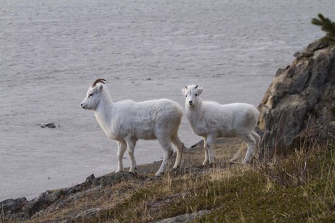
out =
[[[177,132],[182,109],[168,99],[134,102],[105,102],[97,107],[96,119],[110,139],[156,139],[156,135]]]

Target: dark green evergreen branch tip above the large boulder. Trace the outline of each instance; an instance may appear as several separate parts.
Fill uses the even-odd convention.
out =
[[[319,18],[313,18],[312,24],[321,26],[321,30],[326,32],[326,36],[322,38],[323,41],[329,44],[335,44],[335,22],[324,17],[321,13],[318,14]]]

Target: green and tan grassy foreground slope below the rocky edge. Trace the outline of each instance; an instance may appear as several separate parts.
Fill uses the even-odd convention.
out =
[[[150,222],[206,209],[211,213],[195,222],[334,222],[334,153],[331,145],[315,146],[271,166],[136,178],[87,193],[33,222],[64,220],[91,208],[99,211],[75,221]]]

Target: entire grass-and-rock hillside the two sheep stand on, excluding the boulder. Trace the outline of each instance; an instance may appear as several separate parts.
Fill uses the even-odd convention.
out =
[[[217,141],[221,164],[197,167],[202,148],[186,152],[192,163],[161,178],[145,171],[159,163],[48,191],[21,201],[3,222],[332,222],[335,220],[334,144],[313,144],[271,165],[227,164],[239,141]],[[225,148],[223,148],[225,147]],[[225,151],[225,153],[222,153]],[[228,154],[229,153],[229,154]],[[33,200],[34,201],[34,200]],[[13,204],[14,201],[12,201]],[[20,201],[16,201],[17,204]],[[29,203],[31,202],[31,203]],[[9,206],[2,203],[8,213]],[[27,208],[30,207],[30,208]],[[24,209],[27,208],[27,209]],[[14,214],[15,213],[15,214]],[[29,217],[29,215],[31,215]],[[13,217],[12,220],[9,218]],[[177,217],[177,218],[176,218]],[[195,218],[197,217],[197,218]],[[16,218],[16,219],[15,219]]]

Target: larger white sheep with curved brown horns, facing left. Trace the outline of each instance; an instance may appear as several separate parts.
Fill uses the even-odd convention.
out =
[[[178,137],[182,108],[177,102],[168,99],[112,102],[104,84],[105,79],[97,79],[87,91],[81,106],[83,109],[94,110],[96,121],[107,137],[117,141],[117,172],[123,171],[122,158],[128,149],[131,157],[129,171],[135,173],[137,165],[134,148],[138,139],[158,139],[163,147],[164,158],[156,176],[160,176],[167,167],[173,153],[171,142],[177,147],[177,159],[173,168],[179,167],[184,144]]]

